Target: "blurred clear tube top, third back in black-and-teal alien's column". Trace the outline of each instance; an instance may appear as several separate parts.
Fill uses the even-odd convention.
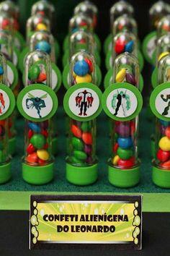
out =
[[[129,31],[138,36],[138,27],[135,19],[128,14],[117,17],[112,27],[112,35],[117,35],[122,31]]]

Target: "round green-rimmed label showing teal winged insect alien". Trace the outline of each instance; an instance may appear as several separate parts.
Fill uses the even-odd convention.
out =
[[[58,98],[46,85],[29,85],[19,93],[17,108],[27,120],[45,121],[57,111]]]

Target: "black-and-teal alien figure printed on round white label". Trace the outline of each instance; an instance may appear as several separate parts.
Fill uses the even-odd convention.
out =
[[[120,106],[122,107],[123,115],[127,116],[126,111],[130,109],[131,103],[129,95],[126,94],[126,90],[125,93],[123,93],[122,90],[119,93],[117,90],[117,94],[114,94],[112,97],[112,108],[115,109],[114,116],[117,116]]]

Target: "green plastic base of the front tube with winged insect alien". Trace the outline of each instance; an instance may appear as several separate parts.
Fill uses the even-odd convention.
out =
[[[30,166],[22,163],[22,178],[25,182],[42,185],[51,182],[54,176],[54,163],[47,166]]]

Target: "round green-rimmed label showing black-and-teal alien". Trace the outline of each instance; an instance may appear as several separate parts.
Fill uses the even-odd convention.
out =
[[[117,82],[104,91],[104,112],[116,121],[129,121],[138,116],[143,106],[140,91],[128,82]]]

